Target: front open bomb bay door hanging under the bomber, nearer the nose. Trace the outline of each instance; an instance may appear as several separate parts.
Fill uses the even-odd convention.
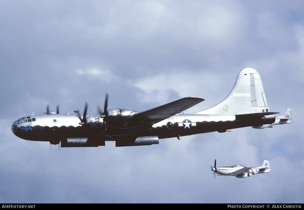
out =
[[[67,138],[61,141],[61,147],[98,147],[105,146],[105,141],[95,138]]]

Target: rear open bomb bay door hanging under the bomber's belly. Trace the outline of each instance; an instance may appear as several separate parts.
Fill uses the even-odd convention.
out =
[[[126,147],[126,146],[143,146],[159,144],[158,136],[140,136],[134,139],[120,139],[116,141],[116,147]]]

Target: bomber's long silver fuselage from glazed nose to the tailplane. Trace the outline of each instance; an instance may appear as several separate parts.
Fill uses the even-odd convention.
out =
[[[171,138],[243,127],[234,115],[177,114],[150,126],[126,128],[109,127],[98,115],[87,115],[87,126],[76,114],[42,114],[22,117],[12,124],[12,132],[19,138],[32,141],[55,141],[65,138],[99,137],[115,141],[127,136],[159,136]],[[172,124],[171,127],[168,124]],[[246,126],[246,125],[244,125]]]

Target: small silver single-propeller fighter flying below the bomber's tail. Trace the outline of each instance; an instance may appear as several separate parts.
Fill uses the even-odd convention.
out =
[[[241,165],[227,166],[216,168],[216,160],[214,160],[214,168],[211,170],[222,176],[235,176],[237,178],[250,177],[257,173],[268,173],[270,172],[270,165],[268,160],[264,160],[262,166],[257,168],[245,167]]]

